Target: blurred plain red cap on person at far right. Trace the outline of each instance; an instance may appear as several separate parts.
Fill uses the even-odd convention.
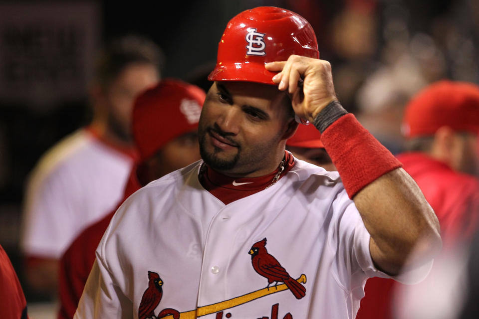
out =
[[[479,133],[479,86],[439,81],[408,103],[402,131],[406,138],[434,135],[448,126],[457,132]]]

